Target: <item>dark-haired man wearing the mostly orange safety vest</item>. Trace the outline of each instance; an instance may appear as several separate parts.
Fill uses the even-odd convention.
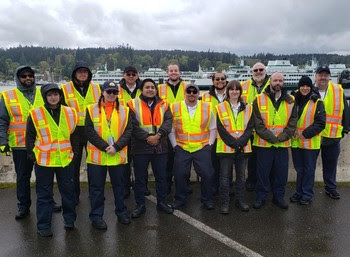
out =
[[[168,159],[167,138],[171,132],[173,116],[167,102],[158,97],[154,80],[141,82],[142,94],[128,103],[133,121],[132,153],[135,172],[136,208],[132,218],[138,218],[146,211],[144,192],[147,188],[148,165],[156,182],[157,209],[167,214],[173,208],[166,203],[167,180],[166,163]]]

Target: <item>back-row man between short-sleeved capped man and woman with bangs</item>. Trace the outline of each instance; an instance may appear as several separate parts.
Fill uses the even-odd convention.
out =
[[[227,85],[226,75],[222,72],[216,72],[211,77],[213,85],[209,91],[202,94],[202,101],[211,103],[214,115],[216,115],[216,106],[225,100],[225,88]],[[216,141],[214,142],[211,160],[213,162],[214,176],[213,176],[213,193],[216,195],[219,192],[219,158],[216,156]]]

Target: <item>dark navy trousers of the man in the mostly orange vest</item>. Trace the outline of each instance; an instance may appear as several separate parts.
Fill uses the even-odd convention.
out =
[[[167,165],[168,154],[136,154],[133,156],[135,172],[135,201],[137,205],[145,204],[144,192],[147,188],[148,165],[151,162],[156,180],[157,202],[165,201],[168,192]]]

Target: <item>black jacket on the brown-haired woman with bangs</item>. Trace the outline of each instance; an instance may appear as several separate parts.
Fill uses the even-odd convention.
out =
[[[241,102],[241,105],[239,107],[238,113],[241,111],[244,111],[246,109],[245,103]],[[238,152],[242,151],[243,147],[245,147],[248,144],[248,141],[250,139],[250,136],[253,133],[254,129],[254,117],[253,115],[250,117],[250,120],[247,124],[247,128],[244,130],[242,136],[235,139],[233,136],[230,135],[230,133],[225,129],[224,125],[221,123],[219,119],[219,115],[217,115],[216,118],[216,126],[218,129],[218,133],[221,137],[221,139],[224,141],[226,145],[228,145],[231,148],[235,148],[238,150]],[[217,155],[227,155],[228,153],[218,153]]]

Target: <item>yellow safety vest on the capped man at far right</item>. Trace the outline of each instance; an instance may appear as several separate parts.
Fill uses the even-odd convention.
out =
[[[339,84],[328,82],[326,96],[323,99],[326,110],[326,127],[321,132],[322,137],[341,138],[344,111],[344,89]]]

